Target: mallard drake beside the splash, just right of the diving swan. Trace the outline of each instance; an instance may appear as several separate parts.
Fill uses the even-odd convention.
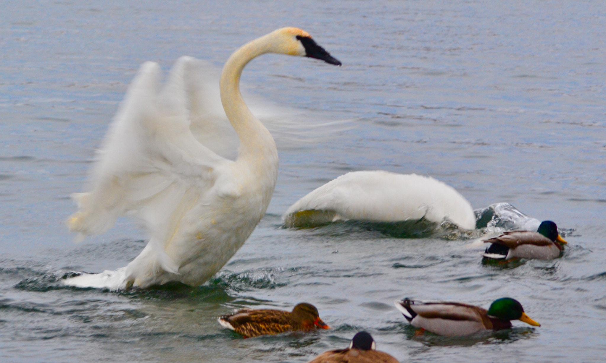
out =
[[[491,243],[484,257],[492,260],[510,260],[511,258],[538,258],[551,260],[557,258],[567,242],[558,234],[558,227],[552,221],[542,221],[536,232],[511,231],[499,237],[484,240]]]

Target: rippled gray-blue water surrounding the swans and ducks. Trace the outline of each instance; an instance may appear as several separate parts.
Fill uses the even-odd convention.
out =
[[[5,1],[0,11],[0,360],[307,362],[368,330],[401,362],[599,362],[606,355],[606,8],[601,1]],[[301,27],[343,62],[264,56],[248,93],[309,120],[351,120],[283,143],[268,214],[205,286],[65,289],[68,270],[125,266],[130,220],[73,243],[64,226],[128,83],[145,60],[221,67]],[[304,122],[304,121],[303,121]],[[280,140],[278,144],[281,145]],[[460,238],[291,230],[280,215],[347,171],[431,175],[474,208],[508,202],[567,231],[562,258],[483,266]],[[488,336],[415,336],[405,296],[487,307],[519,299],[541,322]],[[318,306],[333,329],[241,339],[216,316]]]

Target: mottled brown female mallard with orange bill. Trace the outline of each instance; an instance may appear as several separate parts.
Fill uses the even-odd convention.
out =
[[[219,324],[244,338],[273,335],[295,330],[330,329],[320,319],[318,309],[307,302],[297,304],[292,312],[273,309],[243,309],[231,315],[219,316]]]

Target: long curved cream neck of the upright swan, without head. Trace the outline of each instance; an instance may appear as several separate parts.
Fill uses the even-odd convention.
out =
[[[238,159],[273,159],[276,143],[267,128],[248,110],[240,93],[240,76],[251,59],[271,52],[271,34],[255,39],[231,54],[221,73],[221,103],[240,139]]]

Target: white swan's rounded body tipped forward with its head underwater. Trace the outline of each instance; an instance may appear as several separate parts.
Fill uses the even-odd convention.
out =
[[[453,187],[431,177],[387,171],[355,171],[341,175],[290,206],[287,226],[314,226],[339,220],[397,222],[450,220],[474,229],[471,204]]]

